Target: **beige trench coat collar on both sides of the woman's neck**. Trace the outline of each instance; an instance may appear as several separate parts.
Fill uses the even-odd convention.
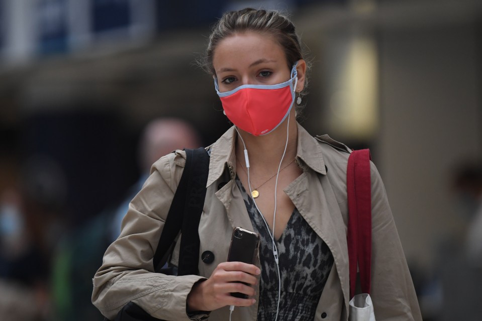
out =
[[[312,137],[299,123],[297,123],[297,127],[297,164],[303,171],[307,171],[307,169],[310,168],[319,174],[326,175],[325,161],[323,159],[320,142]],[[236,173],[236,137],[236,129],[232,126],[211,146],[211,161],[209,162],[207,186],[216,182],[226,167],[230,171],[231,179],[234,179]]]

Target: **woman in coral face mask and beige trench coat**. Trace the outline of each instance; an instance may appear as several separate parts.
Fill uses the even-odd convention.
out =
[[[307,64],[295,27],[277,12],[226,13],[210,37],[205,67],[234,124],[208,147],[199,234],[200,253],[211,251],[214,262],[200,259],[200,276],[152,272],[152,257],[185,164],[185,153],[177,150],[153,165],[131,202],[122,233],[95,274],[93,303],[109,318],[134,301],[167,320],[228,320],[230,306],[233,320],[347,320],[350,150],[328,136],[310,136],[296,122],[292,107],[301,103]],[[375,315],[377,320],[421,320],[373,164],[371,181]],[[236,226],[260,234],[255,264],[226,262]]]

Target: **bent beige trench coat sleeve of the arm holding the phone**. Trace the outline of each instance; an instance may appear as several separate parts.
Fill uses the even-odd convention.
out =
[[[184,154],[178,152],[153,165],[151,175],[129,204],[121,234],[104,254],[93,278],[92,303],[109,319],[133,301],[154,317],[189,320],[187,294],[204,278],[154,273],[152,261],[184,164]]]

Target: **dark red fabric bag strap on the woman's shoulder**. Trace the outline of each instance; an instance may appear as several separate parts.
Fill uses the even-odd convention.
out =
[[[350,299],[355,295],[359,267],[361,290],[370,293],[371,284],[371,180],[370,151],[354,150],[348,157],[348,260]]]

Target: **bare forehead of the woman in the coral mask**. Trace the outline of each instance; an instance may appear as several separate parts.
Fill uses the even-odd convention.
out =
[[[236,33],[221,40],[213,54],[215,70],[249,66],[260,59],[286,64],[283,48],[268,34]]]

